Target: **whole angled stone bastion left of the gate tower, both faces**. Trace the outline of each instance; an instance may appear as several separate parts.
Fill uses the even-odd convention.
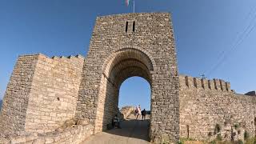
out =
[[[74,118],[84,58],[18,58],[0,116],[2,134],[45,133]]]

